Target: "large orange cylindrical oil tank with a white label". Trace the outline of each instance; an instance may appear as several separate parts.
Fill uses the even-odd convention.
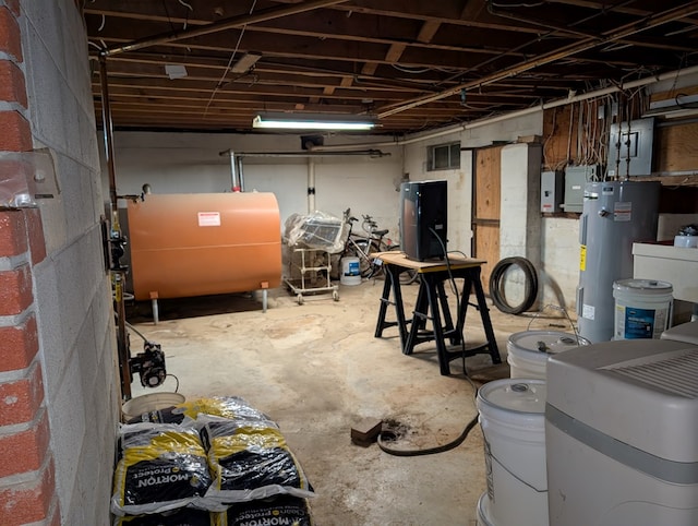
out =
[[[273,193],[147,194],[145,201],[130,201],[128,214],[137,300],[281,283],[281,227]]]

